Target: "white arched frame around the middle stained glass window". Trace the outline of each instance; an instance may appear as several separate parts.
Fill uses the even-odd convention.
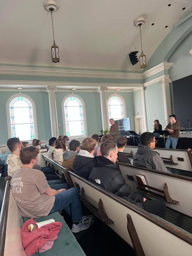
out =
[[[86,110],[85,110],[85,103],[84,103],[84,100],[77,94],[68,94],[63,100],[62,100],[62,103],[61,103],[61,108],[62,108],[62,116],[63,116],[63,131],[64,131],[64,134],[66,135],[67,134],[67,131],[66,131],[66,126],[65,126],[65,111],[64,111],[64,103],[65,101],[70,98],[70,97],[75,97],[79,100],[81,100],[82,102],[82,106],[83,106],[83,115],[84,115],[84,128],[85,128],[85,134],[84,135],[76,135],[76,136],[68,136],[69,138],[83,138],[83,137],[87,137],[87,119],[86,119]]]

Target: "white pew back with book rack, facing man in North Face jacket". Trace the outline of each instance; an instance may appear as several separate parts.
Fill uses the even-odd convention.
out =
[[[179,204],[166,202],[166,206],[192,217],[192,204],[189,203],[192,200],[192,178],[168,172],[142,168],[132,164],[118,164],[121,174],[124,176],[125,182],[132,188],[132,190],[136,191],[137,188],[135,177],[136,174],[144,175],[147,185],[159,190],[163,190],[166,183],[166,186],[168,187],[168,194],[171,199],[179,202]],[[144,185],[143,187],[148,186]],[[149,191],[152,191],[152,189],[149,188]],[[145,193],[146,192],[147,191],[145,191]],[[150,198],[149,195],[148,197]]]

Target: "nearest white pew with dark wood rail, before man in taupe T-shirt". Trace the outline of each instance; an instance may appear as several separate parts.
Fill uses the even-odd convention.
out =
[[[53,162],[46,156],[44,156],[44,159],[49,163]],[[70,187],[76,186],[80,188],[81,200],[85,198],[82,202],[86,207],[112,228],[128,244],[133,246],[132,239],[127,232],[127,214],[129,214],[146,256],[191,255],[192,234],[115,196],[67,168],[63,168],[56,163],[55,165],[57,165],[59,173],[65,174],[65,178]],[[102,214],[102,212],[104,212],[104,214]],[[172,246],[170,246],[170,244]],[[137,248],[138,246],[139,245],[136,244]],[[136,255],[139,256],[142,254]]]

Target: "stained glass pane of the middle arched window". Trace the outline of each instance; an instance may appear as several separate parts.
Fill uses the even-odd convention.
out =
[[[72,96],[64,102],[65,128],[67,136],[85,135],[85,116],[82,100]]]

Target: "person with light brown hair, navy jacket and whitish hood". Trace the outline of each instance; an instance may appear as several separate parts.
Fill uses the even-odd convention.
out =
[[[96,141],[92,138],[86,138],[81,142],[81,149],[74,157],[74,172],[85,179],[88,179],[93,168],[93,154],[95,151]]]

